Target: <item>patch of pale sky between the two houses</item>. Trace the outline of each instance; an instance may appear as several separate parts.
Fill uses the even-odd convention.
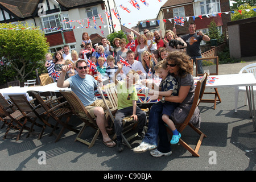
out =
[[[148,6],[146,6],[144,5],[144,3],[141,2],[141,0],[136,1],[138,2],[138,5],[140,7],[139,10],[135,9],[135,7],[129,3],[129,0],[115,0],[118,14],[121,17],[121,23],[125,23],[125,26],[127,28],[136,26],[138,21],[156,18],[159,13],[160,7],[162,7],[164,3],[167,2],[167,0],[162,0],[162,2],[159,2],[158,0],[146,0],[146,2],[148,3]],[[122,10],[119,5],[127,7],[127,9],[131,11],[131,13],[127,13],[125,10]]]

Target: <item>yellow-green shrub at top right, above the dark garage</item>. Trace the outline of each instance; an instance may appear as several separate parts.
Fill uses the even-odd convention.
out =
[[[238,19],[246,19],[256,16],[256,12],[254,10],[246,11],[249,9],[255,9],[256,6],[251,7],[249,4],[245,3],[244,5],[241,5],[237,8],[237,10],[241,10],[241,13],[236,11],[231,15],[231,20],[238,20]]]

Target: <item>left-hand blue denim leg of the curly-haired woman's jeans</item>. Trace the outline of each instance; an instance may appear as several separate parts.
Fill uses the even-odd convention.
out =
[[[148,118],[147,133],[143,139],[143,142],[158,145],[158,131],[159,131],[159,120],[162,120],[163,105],[157,102],[152,105],[150,109],[150,115]]]

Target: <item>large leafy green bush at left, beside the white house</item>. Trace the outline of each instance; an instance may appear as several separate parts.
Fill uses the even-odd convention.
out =
[[[43,69],[49,44],[42,30],[28,24],[0,24],[0,67],[2,83],[36,78],[35,69]]]

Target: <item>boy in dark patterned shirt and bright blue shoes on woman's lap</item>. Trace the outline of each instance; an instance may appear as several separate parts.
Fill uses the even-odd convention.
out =
[[[164,96],[177,96],[179,94],[177,90],[178,83],[175,77],[169,73],[165,60],[158,62],[158,64],[155,65],[154,69],[155,72],[159,74],[159,78],[162,78],[162,81],[159,85],[159,91],[151,90],[150,92],[148,92],[148,94],[163,96],[163,100],[159,101],[156,104],[163,105],[162,119],[172,130],[173,135],[170,143],[176,144],[179,142],[181,134],[179,133],[179,131],[177,131],[174,122],[172,122],[170,119],[170,116],[178,104],[174,102],[164,101]]]

